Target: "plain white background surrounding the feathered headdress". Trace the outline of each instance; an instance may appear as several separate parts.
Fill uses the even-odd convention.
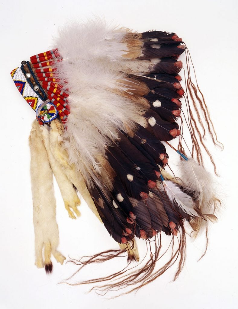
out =
[[[3,1],[1,2],[1,186],[0,309],[13,308],[237,308],[237,2],[229,1]],[[189,242],[187,260],[177,281],[173,271],[137,294],[107,300],[87,286],[57,285],[75,269],[58,265],[46,276],[34,265],[34,231],[29,175],[28,135],[34,112],[21,98],[10,71],[36,53],[52,47],[52,36],[68,19],[92,15],[134,28],[176,32],[193,58],[200,88],[208,103],[223,152],[211,146],[221,175],[224,199],[219,223],[210,231],[206,256],[202,241]],[[208,169],[211,169],[208,164]],[[59,249],[79,257],[117,248],[107,231],[83,203],[81,218],[71,220],[59,190]],[[164,237],[166,237],[164,235]],[[139,242],[143,254],[143,242]],[[126,259],[91,265],[79,279],[96,277],[101,268],[119,270]],[[174,270],[174,269],[173,269]],[[101,272],[100,272],[101,274]]]

